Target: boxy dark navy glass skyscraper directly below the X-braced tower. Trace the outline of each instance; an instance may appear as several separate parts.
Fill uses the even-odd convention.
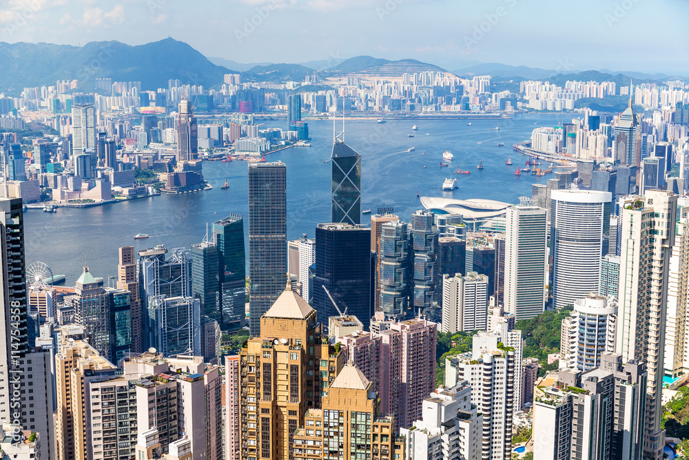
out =
[[[371,288],[371,229],[346,223],[320,223],[316,227],[316,266],[313,278],[313,308],[323,324],[338,308],[353,314],[369,328],[373,316]]]

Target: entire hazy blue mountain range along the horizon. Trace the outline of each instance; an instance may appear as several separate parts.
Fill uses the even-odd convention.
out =
[[[445,72],[439,66],[415,59],[390,61],[371,56],[350,59],[317,60],[303,63],[238,63],[220,57],[207,58],[187,43],[172,38],[130,46],[119,41],[90,42],[84,46],[51,43],[5,43],[0,41],[0,91],[19,94],[22,88],[54,84],[58,80],[79,80],[80,90],[93,90],[96,78],[113,81],[141,81],[145,90],[167,88],[169,79],[183,84],[218,87],[227,73],[241,73],[243,81],[303,81],[307,74],[323,76],[356,74],[362,77],[395,77],[404,72]],[[454,70],[460,77],[489,74],[495,81],[547,80],[559,85],[567,80],[615,81],[618,86],[664,81],[664,74],[612,72],[610,70],[579,73],[557,72],[501,63],[475,63]]]

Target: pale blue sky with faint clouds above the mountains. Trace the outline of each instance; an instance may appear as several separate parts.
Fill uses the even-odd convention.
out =
[[[0,0],[0,41],[167,37],[240,63],[362,54],[689,76],[689,0]]]

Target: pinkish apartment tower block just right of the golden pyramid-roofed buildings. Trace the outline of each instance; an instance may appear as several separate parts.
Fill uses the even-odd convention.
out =
[[[435,388],[436,323],[425,319],[371,322],[371,332],[338,337],[348,359],[373,382],[381,412],[394,414],[395,432],[422,417],[422,401]]]

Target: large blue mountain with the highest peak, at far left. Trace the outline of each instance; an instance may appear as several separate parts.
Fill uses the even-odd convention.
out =
[[[216,66],[183,41],[164,39],[140,46],[119,41],[92,41],[84,46],[0,42],[0,90],[79,80],[80,90],[95,88],[96,78],[141,81],[144,90],[167,88],[169,79],[207,88],[237,73]]]

